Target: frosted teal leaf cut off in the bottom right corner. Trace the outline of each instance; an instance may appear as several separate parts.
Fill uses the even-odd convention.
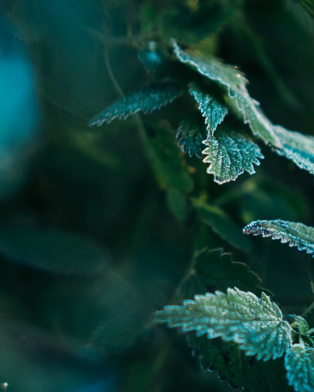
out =
[[[294,344],[285,356],[288,384],[296,392],[314,390],[314,348],[305,347],[303,341]]]

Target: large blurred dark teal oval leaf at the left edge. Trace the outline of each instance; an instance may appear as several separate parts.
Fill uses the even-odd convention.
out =
[[[95,274],[106,268],[108,252],[96,241],[53,227],[6,226],[0,229],[2,257],[60,274]]]

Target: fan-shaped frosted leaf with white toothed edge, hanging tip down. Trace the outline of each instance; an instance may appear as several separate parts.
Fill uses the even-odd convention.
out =
[[[218,184],[234,181],[244,171],[254,174],[253,163],[259,165],[258,158],[264,158],[253,140],[224,126],[203,143],[207,146],[203,151],[207,155],[203,162],[210,163],[207,173],[214,174],[214,181]]]

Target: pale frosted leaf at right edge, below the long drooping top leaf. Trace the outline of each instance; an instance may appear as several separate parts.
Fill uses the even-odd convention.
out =
[[[275,126],[282,148],[274,148],[278,155],[291,159],[300,169],[314,174],[314,137]]]

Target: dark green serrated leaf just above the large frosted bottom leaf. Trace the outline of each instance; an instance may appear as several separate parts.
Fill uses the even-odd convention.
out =
[[[195,256],[193,268],[206,287],[216,287],[224,291],[228,287],[236,286],[257,296],[266,291],[260,287],[262,281],[255,272],[245,263],[233,261],[232,254],[223,252],[223,249],[202,250]],[[271,295],[268,290],[267,294]]]

